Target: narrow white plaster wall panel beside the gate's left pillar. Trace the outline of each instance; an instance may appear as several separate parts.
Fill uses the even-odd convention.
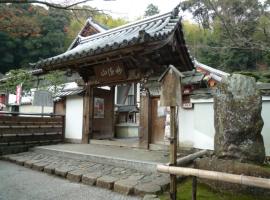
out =
[[[66,98],[66,132],[68,139],[82,139],[83,98],[70,96]]]

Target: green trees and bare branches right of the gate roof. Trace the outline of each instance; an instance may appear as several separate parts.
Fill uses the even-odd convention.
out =
[[[199,25],[185,26],[187,43],[198,60],[229,72],[270,68],[269,2],[186,0]]]

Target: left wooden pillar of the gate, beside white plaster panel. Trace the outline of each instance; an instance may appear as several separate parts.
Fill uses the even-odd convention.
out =
[[[86,91],[83,98],[83,134],[82,134],[82,143],[88,144],[89,139],[92,137],[93,130],[93,87],[89,84],[86,84]]]

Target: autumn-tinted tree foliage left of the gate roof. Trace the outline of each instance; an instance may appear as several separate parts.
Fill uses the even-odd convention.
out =
[[[89,16],[90,9],[70,11],[32,4],[0,4],[0,72],[29,68],[29,63],[63,53],[88,17],[108,28],[127,23],[97,11]]]

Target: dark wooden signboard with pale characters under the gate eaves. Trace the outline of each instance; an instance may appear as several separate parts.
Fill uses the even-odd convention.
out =
[[[126,78],[125,67],[120,62],[99,65],[94,70],[99,82],[114,82]]]

